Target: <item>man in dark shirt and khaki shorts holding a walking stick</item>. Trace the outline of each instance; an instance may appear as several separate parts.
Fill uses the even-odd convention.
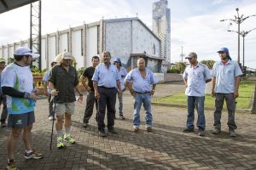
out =
[[[60,56],[60,55],[58,55]],[[73,57],[69,53],[61,54],[61,61],[59,65],[55,65],[50,73],[49,88],[51,95],[55,97],[55,115],[57,121],[55,128],[57,131],[57,148],[64,147],[63,140],[69,144],[74,144],[75,139],[71,136],[71,116],[74,113],[74,102],[76,96],[74,88],[79,93],[79,100],[83,101],[83,94],[81,94],[78,86],[79,79],[76,69],[71,65]],[[64,122],[65,121],[65,122]],[[65,127],[65,134],[63,138],[62,127]]]

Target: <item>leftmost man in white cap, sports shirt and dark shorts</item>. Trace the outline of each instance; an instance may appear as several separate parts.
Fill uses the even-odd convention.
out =
[[[15,50],[15,62],[5,67],[1,77],[3,94],[7,95],[9,134],[7,152],[7,169],[15,167],[15,146],[23,130],[22,139],[25,144],[26,159],[40,159],[42,154],[32,149],[32,123],[35,122],[34,106],[37,101],[38,89],[33,88],[33,77],[29,65],[39,57],[30,48],[20,47]]]

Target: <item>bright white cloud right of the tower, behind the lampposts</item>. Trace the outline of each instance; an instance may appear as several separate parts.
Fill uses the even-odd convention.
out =
[[[244,5],[240,8],[243,9],[241,14],[250,15],[255,13],[256,3]],[[234,14],[236,14],[235,8],[225,7],[220,8],[211,15],[192,16],[184,20],[175,20],[174,23],[172,22],[172,62],[181,60],[181,46],[183,46],[183,54],[189,54],[190,51],[195,51],[199,56],[199,60],[218,60],[218,54],[216,53],[218,48],[227,47],[230,48],[232,58],[236,60],[238,35],[235,32],[228,32],[227,30],[237,31],[237,25],[233,24],[230,26],[228,21],[219,22],[221,19],[231,18]],[[256,23],[255,21],[256,17],[245,20],[241,24],[241,30],[256,27],[254,24]],[[256,31],[252,31],[250,35],[248,34],[245,41],[245,63],[253,68],[256,67],[254,59],[256,54],[255,37]],[[240,56],[240,60],[242,61],[242,41]]]

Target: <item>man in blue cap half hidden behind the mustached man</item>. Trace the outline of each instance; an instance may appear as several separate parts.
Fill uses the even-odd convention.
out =
[[[127,71],[125,69],[125,67],[122,66],[121,63],[121,59],[119,59],[119,57],[116,57],[115,59],[113,59],[113,64],[116,66],[116,68],[119,71],[119,75],[120,75],[120,85],[121,85],[121,90],[122,92],[125,91],[125,77],[127,75]],[[123,115],[123,94],[122,95],[118,95],[119,98],[119,119],[121,120],[125,120],[125,116]]]

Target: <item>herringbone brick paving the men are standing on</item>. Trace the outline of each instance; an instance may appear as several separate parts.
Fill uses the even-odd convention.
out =
[[[160,84],[155,97],[183,91],[183,84]],[[206,112],[206,136],[182,133],[186,110],[153,106],[154,132],[144,126],[132,132],[132,99],[126,92],[125,121],[116,120],[118,134],[98,136],[93,117],[90,126],[82,127],[84,105],[77,105],[73,116],[72,133],[77,144],[66,149],[49,150],[51,122],[47,119],[47,100],[40,99],[36,107],[36,123],[32,131],[34,148],[44,153],[41,160],[25,160],[24,145],[20,145],[15,161],[20,169],[256,169],[256,115],[236,114],[236,138],[230,138],[224,112],[223,132],[212,134],[212,111]],[[144,123],[143,114],[141,117]],[[143,125],[142,123],[142,125]],[[0,128],[0,169],[6,167],[6,139],[8,128]],[[54,133],[54,139],[56,138]]]

